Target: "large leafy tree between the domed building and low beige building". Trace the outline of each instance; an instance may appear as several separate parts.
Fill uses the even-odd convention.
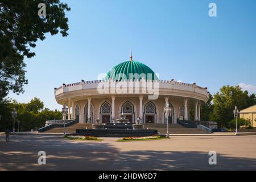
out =
[[[217,121],[218,125],[227,126],[233,116],[234,107],[237,106],[239,110],[249,107],[249,98],[247,91],[243,91],[240,86],[222,86],[220,92],[214,94],[213,98],[213,115],[211,120]]]

